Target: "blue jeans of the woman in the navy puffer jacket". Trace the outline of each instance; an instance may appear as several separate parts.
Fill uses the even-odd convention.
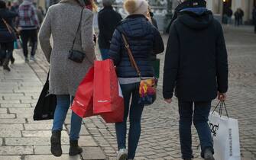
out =
[[[138,104],[139,83],[121,85],[122,93],[125,98],[125,117],[124,122],[115,123],[115,132],[118,141],[118,149],[126,149],[126,129],[129,114],[130,129],[128,135],[128,159],[135,157],[138,141],[141,136],[141,114],[144,105]],[[132,98],[132,99],[131,99]],[[131,107],[130,107],[131,99]]]

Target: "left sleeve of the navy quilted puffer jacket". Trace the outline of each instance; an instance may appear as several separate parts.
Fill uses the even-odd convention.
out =
[[[109,57],[114,61],[115,66],[118,65],[121,58],[122,36],[118,30],[115,30],[109,49]]]

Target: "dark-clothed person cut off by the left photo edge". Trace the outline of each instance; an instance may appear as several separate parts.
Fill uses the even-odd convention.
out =
[[[15,30],[12,21],[18,16],[9,11],[4,1],[0,0],[0,66],[11,71],[8,64],[12,57],[15,41]]]

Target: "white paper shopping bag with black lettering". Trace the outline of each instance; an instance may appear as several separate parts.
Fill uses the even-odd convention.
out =
[[[217,112],[209,115],[212,131],[214,157],[217,160],[241,160],[238,120],[220,116]]]

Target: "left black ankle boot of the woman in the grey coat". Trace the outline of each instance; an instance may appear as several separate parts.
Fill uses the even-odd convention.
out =
[[[62,155],[60,137],[60,130],[53,131],[50,137],[50,152],[56,157],[60,157]]]

